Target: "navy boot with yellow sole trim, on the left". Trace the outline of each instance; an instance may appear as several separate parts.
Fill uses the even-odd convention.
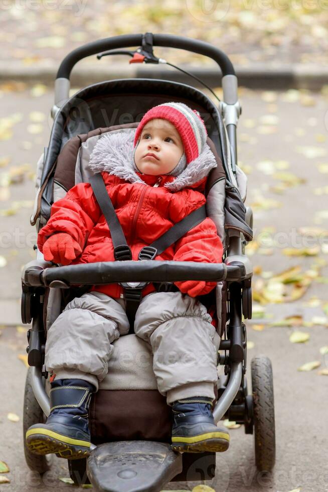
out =
[[[95,387],[79,379],[55,380],[50,390],[50,415],[45,424],[32,425],[26,433],[35,454],[56,453],[67,459],[89,455],[88,409]]]

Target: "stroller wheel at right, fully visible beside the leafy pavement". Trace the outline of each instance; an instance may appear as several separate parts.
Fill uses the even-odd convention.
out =
[[[254,409],[255,463],[259,471],[271,471],[275,463],[275,421],[271,361],[258,355],[251,361]]]

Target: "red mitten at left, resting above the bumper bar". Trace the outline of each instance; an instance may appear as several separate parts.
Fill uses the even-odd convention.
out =
[[[69,265],[81,253],[80,244],[67,232],[53,234],[43,245],[43,256],[47,262]]]

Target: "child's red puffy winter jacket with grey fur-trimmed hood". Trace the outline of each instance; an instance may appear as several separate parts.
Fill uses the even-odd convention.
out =
[[[133,170],[132,141],[131,132],[105,134],[91,154],[89,167],[93,172],[102,171],[107,192],[131,248],[132,260],[137,260],[145,245],[205,203],[202,191],[208,168],[215,167],[216,161],[207,148],[177,178],[143,175]],[[192,183],[198,178],[201,179]],[[185,186],[186,183],[191,184]],[[82,254],[72,264],[114,261],[108,225],[89,183],[77,184],[52,205],[51,217],[38,235],[41,252],[47,238],[56,232],[67,232],[80,244]],[[222,255],[223,246],[216,226],[207,217],[155,260],[221,263]],[[207,282],[201,294],[207,294],[215,285]],[[123,296],[123,288],[118,284],[93,286],[91,290],[113,298]],[[145,296],[154,290],[153,284],[148,284],[142,294]]]

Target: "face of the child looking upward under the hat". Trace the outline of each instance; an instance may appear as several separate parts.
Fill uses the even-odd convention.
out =
[[[170,173],[183,153],[184,145],[176,127],[167,119],[156,118],[143,127],[134,161],[141,173],[156,176]]]

